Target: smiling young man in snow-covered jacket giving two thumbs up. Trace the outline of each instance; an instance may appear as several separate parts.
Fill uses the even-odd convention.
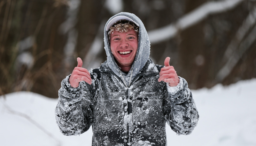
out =
[[[198,112],[185,79],[151,59],[142,21],[121,12],[104,30],[107,60],[88,72],[82,60],[61,82],[56,120],[64,135],[79,135],[92,125],[92,145],[166,145],[165,124],[190,134]]]

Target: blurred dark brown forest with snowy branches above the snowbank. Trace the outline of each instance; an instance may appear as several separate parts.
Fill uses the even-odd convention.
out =
[[[105,61],[103,29],[120,11],[144,22],[150,58],[169,56],[190,89],[256,77],[255,0],[0,0],[0,95],[57,98],[77,57],[87,69]]]

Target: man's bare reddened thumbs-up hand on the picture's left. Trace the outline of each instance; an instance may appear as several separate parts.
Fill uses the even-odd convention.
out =
[[[74,68],[71,76],[69,78],[69,83],[72,87],[77,88],[79,86],[79,82],[85,81],[91,85],[91,76],[87,69],[82,68],[83,61],[81,58],[77,58],[77,67]]]

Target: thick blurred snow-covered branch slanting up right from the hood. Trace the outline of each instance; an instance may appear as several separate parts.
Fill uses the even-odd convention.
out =
[[[178,31],[184,30],[200,22],[208,15],[230,10],[243,1],[245,0],[223,0],[216,2],[206,2],[199,6],[197,9],[178,19],[177,22],[149,31],[149,40],[151,44],[155,44],[173,38]]]

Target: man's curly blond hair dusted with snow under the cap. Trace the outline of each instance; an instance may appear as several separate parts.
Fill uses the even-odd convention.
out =
[[[139,33],[139,27],[136,24],[134,24],[133,22],[131,22],[131,21],[120,20],[120,21],[116,22],[115,24],[113,24],[109,28],[109,31],[107,32],[109,43],[110,43],[110,34],[111,34],[111,32],[119,31],[121,33],[126,33],[126,32],[128,32],[129,30],[132,30],[132,29],[135,32]]]

